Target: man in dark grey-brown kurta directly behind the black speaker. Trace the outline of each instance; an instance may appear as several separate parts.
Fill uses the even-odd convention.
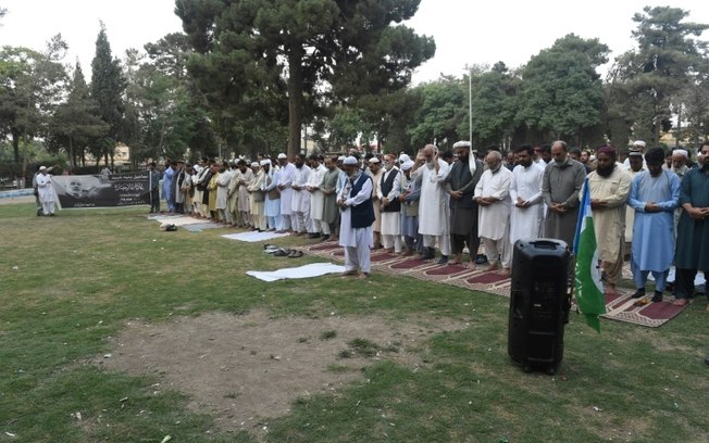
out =
[[[569,157],[567,143],[558,140],[551,145],[552,161],[544,169],[542,194],[547,204],[545,236],[573,244],[579,218],[579,191],[586,178],[586,168]]]

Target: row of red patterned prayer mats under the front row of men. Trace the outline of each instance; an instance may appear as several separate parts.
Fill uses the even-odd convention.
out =
[[[343,248],[337,242],[306,245],[303,246],[303,251],[310,255],[339,261],[343,260],[344,255]],[[462,265],[439,265],[435,260],[422,261],[412,256],[402,257],[380,251],[372,251],[372,269],[385,274],[414,277],[420,280],[510,296],[510,278],[500,275],[498,271],[484,270],[486,266],[478,266],[477,269],[469,269]],[[626,276],[625,271],[623,274],[623,277],[632,277]],[[704,282],[704,275],[697,275],[695,282]],[[666,296],[666,300],[661,303],[649,302],[644,306],[635,306],[636,299],[630,298],[633,292],[633,290],[619,289],[617,293],[607,293],[607,314],[604,317],[657,328],[675,317],[684,308],[684,306],[674,306],[672,304],[674,301],[672,296]],[[648,296],[651,298],[652,292],[649,292]]]

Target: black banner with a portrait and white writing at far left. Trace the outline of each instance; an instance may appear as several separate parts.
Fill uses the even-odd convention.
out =
[[[150,174],[52,176],[63,208],[150,204]]]

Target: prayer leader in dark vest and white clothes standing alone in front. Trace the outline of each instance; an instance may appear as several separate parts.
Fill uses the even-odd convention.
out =
[[[343,277],[359,275],[360,278],[368,278],[370,249],[374,246],[372,178],[362,173],[353,156],[343,161],[343,168],[348,177],[337,195],[337,205],[343,210],[339,225],[339,245],[345,248]]]

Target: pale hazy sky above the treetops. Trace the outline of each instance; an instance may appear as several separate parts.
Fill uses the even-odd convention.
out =
[[[418,34],[433,36],[437,49],[435,58],[416,69],[413,83],[434,80],[440,73],[461,76],[467,64],[492,66],[502,61],[517,67],[570,33],[598,38],[609,47],[612,62],[633,48],[633,14],[645,5],[667,3],[663,0],[512,3],[423,0],[408,25]],[[709,17],[709,2],[674,0],[671,3],[691,11],[689,21],[706,22],[705,17]],[[142,49],[145,43],[182,30],[181,21],[174,14],[174,0],[2,0],[0,7],[8,10],[0,27],[0,45],[42,50],[47,40],[61,33],[70,47],[66,62],[73,64],[78,56],[87,72],[95,54],[99,21],[105,24],[117,56],[123,56],[128,48]],[[37,14],[38,11],[42,13]],[[704,39],[709,37],[705,35]],[[605,74],[607,68],[604,65],[600,71]]]

